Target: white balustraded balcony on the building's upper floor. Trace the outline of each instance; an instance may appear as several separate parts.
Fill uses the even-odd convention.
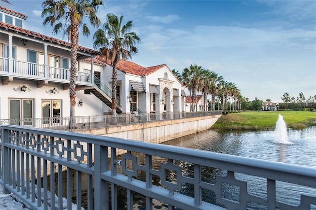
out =
[[[3,85],[14,78],[36,81],[48,81],[54,83],[70,83],[70,70],[47,65],[18,61],[8,58],[0,58],[0,77],[4,79]],[[76,72],[77,85],[91,86],[92,76],[90,73]]]

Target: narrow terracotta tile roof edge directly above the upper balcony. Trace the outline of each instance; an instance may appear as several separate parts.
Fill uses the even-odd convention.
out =
[[[60,40],[60,39],[57,39],[57,38],[54,38],[54,37],[50,37],[50,36],[47,36],[47,35],[42,35],[42,34],[37,33],[37,32],[32,32],[30,30],[26,30],[26,29],[23,29],[23,28],[20,28],[20,27],[17,27],[17,26],[13,26],[11,24],[0,22],[0,27],[3,27],[5,29],[10,29],[12,31],[19,32],[19,33],[22,33],[22,34],[31,35],[31,36],[34,36],[34,37],[38,37],[38,38],[41,38],[41,39],[52,41],[52,42],[55,42],[57,44],[63,44],[65,46],[70,46],[69,42],[66,42],[66,41],[63,41],[63,40]],[[95,51],[95,50],[92,50],[92,49],[89,49],[89,48],[86,48],[86,47],[78,46],[78,49],[82,50],[82,51],[86,51],[88,53],[93,53],[93,54],[96,54],[96,55],[99,54],[98,51]]]

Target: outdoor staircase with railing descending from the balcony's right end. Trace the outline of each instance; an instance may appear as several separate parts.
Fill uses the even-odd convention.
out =
[[[94,86],[92,89],[89,89],[93,95],[98,97],[104,104],[112,107],[112,91],[100,81],[97,77],[94,76]],[[122,100],[117,97],[117,113],[122,113]]]

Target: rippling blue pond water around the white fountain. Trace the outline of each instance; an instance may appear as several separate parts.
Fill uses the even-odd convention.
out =
[[[316,168],[316,127],[303,130],[283,130],[281,133],[286,137],[279,136],[278,132],[277,129],[275,131],[247,132],[208,130],[197,135],[171,140],[165,144]],[[266,189],[267,186],[265,179],[241,174],[236,176],[237,179],[249,182],[250,194],[264,196],[263,189]],[[230,190],[232,188],[228,191]],[[316,197],[316,189],[276,181],[276,194],[277,201],[298,206],[301,194]],[[230,199],[237,200],[232,197]],[[253,205],[248,206],[247,209],[266,208]],[[316,206],[311,206],[311,210],[316,210]]]

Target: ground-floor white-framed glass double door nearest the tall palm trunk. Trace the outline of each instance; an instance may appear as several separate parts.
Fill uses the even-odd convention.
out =
[[[43,124],[60,123],[61,100],[42,100],[41,110]]]

